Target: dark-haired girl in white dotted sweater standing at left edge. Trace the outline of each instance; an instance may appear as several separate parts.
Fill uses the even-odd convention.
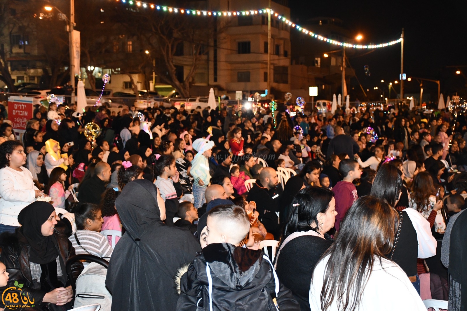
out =
[[[0,233],[13,233],[20,226],[17,218],[21,210],[42,196],[25,164],[26,154],[19,141],[0,145]]]

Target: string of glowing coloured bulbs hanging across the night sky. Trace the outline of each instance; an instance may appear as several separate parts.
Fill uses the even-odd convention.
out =
[[[129,6],[136,6],[142,8],[150,8],[162,12],[168,12],[173,14],[185,14],[185,15],[194,15],[194,16],[246,16],[246,15],[257,15],[257,14],[266,14],[271,13],[271,18],[277,18],[279,21],[282,21],[288,24],[290,27],[295,28],[298,31],[301,31],[305,35],[309,35],[311,38],[315,38],[321,40],[323,42],[328,42],[330,44],[343,46],[346,48],[353,48],[353,49],[378,49],[384,48],[402,41],[402,38],[397,40],[393,40],[390,42],[380,43],[380,44],[354,44],[354,43],[347,43],[347,42],[340,42],[334,39],[327,38],[323,35],[318,35],[306,28],[301,27],[300,25],[295,24],[294,22],[287,19],[282,14],[274,12],[269,8],[259,9],[259,10],[248,10],[248,11],[204,11],[204,10],[195,10],[195,9],[183,9],[179,7],[168,7],[162,5],[156,5],[148,2],[137,1],[137,0],[115,0],[121,3],[127,3]]]

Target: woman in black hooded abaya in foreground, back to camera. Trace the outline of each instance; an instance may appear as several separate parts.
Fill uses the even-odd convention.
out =
[[[175,310],[178,295],[173,280],[177,269],[201,250],[199,243],[188,231],[163,223],[163,199],[148,180],[128,183],[115,206],[126,232],[107,270],[112,311]]]

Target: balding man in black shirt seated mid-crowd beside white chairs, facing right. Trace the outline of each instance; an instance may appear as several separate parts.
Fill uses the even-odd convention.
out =
[[[247,197],[247,201],[255,201],[256,211],[260,214],[259,220],[269,233],[274,234],[276,240],[281,236],[279,217],[276,214],[281,212],[279,203],[282,187],[277,186],[278,181],[276,170],[265,167],[260,173],[260,178],[248,191]]]

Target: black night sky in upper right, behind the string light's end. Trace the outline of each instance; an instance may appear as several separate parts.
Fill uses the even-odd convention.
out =
[[[396,40],[404,28],[404,72],[408,77],[441,80],[441,92],[466,94],[466,78],[456,75],[448,65],[467,65],[467,2],[458,1],[303,1],[289,0],[292,21],[303,23],[307,18],[337,17],[355,35],[362,34],[362,44]],[[292,30],[293,31],[293,30]],[[400,44],[356,53],[349,60],[362,85],[373,91],[381,79],[396,80],[400,73]],[[366,77],[363,66],[371,76]],[[467,66],[460,67],[467,76]],[[352,79],[352,85],[356,83]],[[425,82],[424,92],[437,97],[438,86]],[[399,87],[396,86],[399,91]],[[414,80],[406,82],[405,93],[420,92]]]

